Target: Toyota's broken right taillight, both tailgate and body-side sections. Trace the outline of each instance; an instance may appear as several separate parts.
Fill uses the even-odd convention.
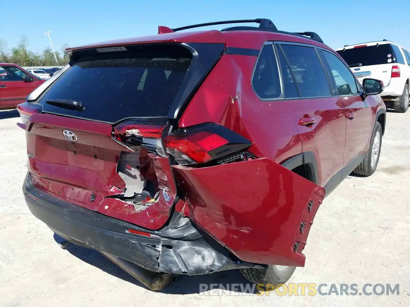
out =
[[[206,163],[220,159],[230,162],[245,158],[244,154],[239,153],[252,145],[251,141],[217,124],[200,124],[187,129],[178,129],[169,135],[164,135],[163,139],[164,127],[123,122],[114,127],[114,135],[116,139],[128,146],[140,145],[141,148],[163,157],[167,152],[179,165]]]

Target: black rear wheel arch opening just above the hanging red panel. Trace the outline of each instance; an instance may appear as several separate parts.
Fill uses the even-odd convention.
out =
[[[299,153],[298,155],[289,158],[285,162],[280,163],[280,165],[289,170],[295,170],[303,167],[303,177],[319,185],[319,169],[317,167],[316,156],[314,155],[313,151]],[[299,174],[299,172],[297,171],[296,173]]]

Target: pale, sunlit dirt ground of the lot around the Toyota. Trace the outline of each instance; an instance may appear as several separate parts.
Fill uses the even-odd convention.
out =
[[[400,295],[206,296],[199,284],[246,283],[239,271],[184,276],[152,292],[95,251],[60,248],[28,210],[25,138],[16,111],[0,112],[0,306],[410,306],[410,111],[387,113],[377,172],[349,176],[324,201],[289,282],[400,284]],[[368,291],[371,287],[368,288]],[[299,294],[301,292],[299,291]]]

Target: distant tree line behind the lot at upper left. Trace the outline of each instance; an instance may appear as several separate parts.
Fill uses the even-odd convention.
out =
[[[29,50],[29,41],[26,36],[21,39],[16,47],[8,49],[7,42],[0,38],[0,62],[14,63],[20,66],[64,66],[68,63],[69,58],[64,51],[68,44],[63,44],[60,50],[55,50],[57,62],[50,47],[43,50],[41,54],[35,54]]]

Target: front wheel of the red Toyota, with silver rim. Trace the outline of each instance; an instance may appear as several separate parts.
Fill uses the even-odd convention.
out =
[[[382,145],[382,126],[376,122],[374,133],[371,138],[369,150],[364,154],[363,161],[353,170],[353,173],[370,176],[376,172],[380,158],[380,149]]]

